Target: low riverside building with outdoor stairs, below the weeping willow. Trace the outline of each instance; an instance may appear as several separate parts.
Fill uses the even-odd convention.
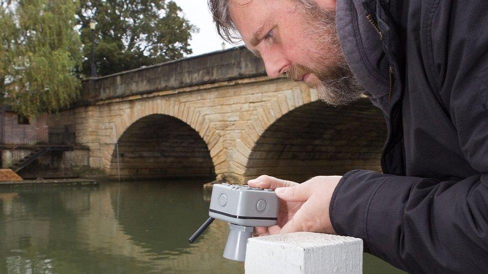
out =
[[[73,177],[66,167],[72,162],[74,139],[72,127],[48,126],[47,114],[28,119],[0,107],[0,168],[23,178]]]

